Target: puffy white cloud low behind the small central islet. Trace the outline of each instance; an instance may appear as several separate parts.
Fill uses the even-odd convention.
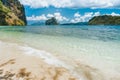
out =
[[[47,14],[47,15],[42,14],[40,16],[32,15],[30,17],[27,17],[27,20],[29,20],[29,21],[30,20],[38,20],[38,21],[40,21],[40,20],[47,20],[47,19],[49,19],[51,17],[55,17],[60,22],[69,20],[66,17],[62,16],[61,13],[59,13],[59,12],[56,12],[54,14]]]

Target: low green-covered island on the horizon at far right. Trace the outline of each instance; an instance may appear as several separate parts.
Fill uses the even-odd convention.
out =
[[[120,25],[120,16],[102,15],[89,20],[90,25]]]

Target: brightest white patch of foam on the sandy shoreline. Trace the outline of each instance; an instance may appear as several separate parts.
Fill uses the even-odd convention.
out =
[[[50,53],[48,53],[46,51],[37,50],[37,49],[29,47],[29,46],[21,47],[21,49],[24,50],[24,52],[28,55],[41,57],[48,64],[66,67],[64,62],[58,60],[56,57],[54,57],[53,55],[51,55]]]

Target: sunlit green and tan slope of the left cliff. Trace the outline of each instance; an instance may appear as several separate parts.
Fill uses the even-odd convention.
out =
[[[9,1],[9,0],[4,0]],[[16,0],[17,1],[17,0]],[[0,25],[17,25],[23,26],[26,25],[26,22],[19,18],[16,13],[11,9],[12,6],[6,6],[3,0],[0,0]]]

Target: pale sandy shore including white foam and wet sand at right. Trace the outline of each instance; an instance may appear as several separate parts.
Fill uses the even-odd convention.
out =
[[[59,59],[59,57],[56,57],[49,52],[41,51],[19,43],[0,41],[0,55],[0,73],[2,73],[0,74],[0,78],[9,72],[11,75],[15,74],[12,76],[12,80],[19,80],[17,75],[23,71],[24,75],[28,75],[26,73],[29,73],[30,78],[32,77],[30,80],[120,79],[119,75],[109,77],[104,74],[104,72],[86,65],[81,61],[74,62],[73,60],[69,61],[70,63],[67,63],[64,59]],[[57,77],[58,79],[53,79],[53,76],[55,75],[59,75],[59,77]],[[24,76],[24,79],[26,79],[26,77],[27,76]],[[46,77],[46,79],[43,77]]]

